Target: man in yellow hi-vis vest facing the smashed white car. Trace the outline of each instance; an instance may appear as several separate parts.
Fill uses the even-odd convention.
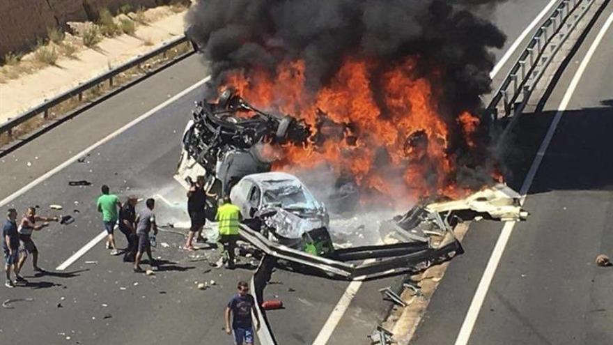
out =
[[[238,228],[240,226],[240,208],[233,205],[230,197],[224,197],[224,204],[217,208],[215,216],[219,222],[219,242],[224,245],[224,251],[228,255],[226,268],[234,268],[234,249],[238,240]]]

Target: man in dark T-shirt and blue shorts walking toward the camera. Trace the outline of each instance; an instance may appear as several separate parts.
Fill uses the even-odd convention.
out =
[[[254,296],[249,295],[247,282],[238,282],[238,293],[232,296],[226,307],[226,334],[234,332],[236,345],[254,344],[254,327],[251,321],[251,311],[256,319],[256,331],[260,329],[260,320],[255,309]],[[232,314],[232,330],[230,329],[230,314]]]

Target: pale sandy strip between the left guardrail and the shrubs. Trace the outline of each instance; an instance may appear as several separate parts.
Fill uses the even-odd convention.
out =
[[[134,36],[105,38],[94,49],[83,49],[73,58],[61,57],[56,66],[1,83],[0,123],[183,35],[185,11],[160,16],[139,26]]]

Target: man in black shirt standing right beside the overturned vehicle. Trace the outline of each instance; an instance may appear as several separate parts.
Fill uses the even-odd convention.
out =
[[[215,197],[215,195],[208,194],[204,190],[204,176],[198,176],[196,183],[192,184],[187,191],[187,213],[189,213],[189,220],[192,224],[189,227],[189,233],[187,233],[187,241],[185,242],[186,250],[194,250],[192,244],[194,235],[197,233],[197,242],[206,242],[206,238],[202,236],[202,228],[206,222],[204,208],[206,206],[206,197]]]

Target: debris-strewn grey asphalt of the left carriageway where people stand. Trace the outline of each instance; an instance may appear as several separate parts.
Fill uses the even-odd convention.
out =
[[[495,10],[492,15],[509,36],[505,49],[495,52],[498,58],[504,56],[506,48],[548,3],[509,1]],[[519,9],[522,15],[517,15]],[[513,54],[509,56],[509,62],[502,64],[501,74],[513,61]],[[598,71],[594,73],[598,75]],[[187,220],[183,192],[171,176],[180,151],[180,133],[202,90],[194,87],[181,91],[207,75],[199,57],[191,56],[0,159],[3,209],[10,205],[24,210],[26,206],[38,205],[42,215],[70,214],[76,219],[70,225],[52,224],[35,235],[40,266],[51,273],[34,275],[28,262],[24,268],[30,281],[28,286],[0,290],[1,300],[33,299],[13,302],[15,309],[0,308],[2,343],[231,344],[231,338],[222,331],[222,312],[237,280],[249,279],[251,270],[228,272],[210,268],[208,263],[215,261],[216,252],[184,252],[178,249],[183,237],[177,233],[160,234],[155,256],[165,263],[155,277],[132,273],[129,264],[109,255],[103,242],[65,270],[54,269],[102,231],[94,200],[103,183],[123,197],[128,194],[156,197],[160,223]],[[178,93],[178,97],[173,97]],[[157,107],[165,100],[169,100],[165,107]],[[150,109],[154,111],[149,112]],[[139,121],[127,126],[137,118]],[[120,130],[124,126],[127,128]],[[79,155],[84,150],[87,154]],[[78,162],[77,158],[84,160]],[[90,181],[92,185],[68,186],[69,181],[78,180]],[[50,210],[51,204],[60,204],[63,210]],[[529,223],[522,224],[526,225]],[[519,227],[516,231],[521,232]],[[479,233],[471,229],[468,236]],[[489,233],[495,240],[495,233]],[[121,237],[118,236],[120,247],[125,245]],[[162,247],[161,243],[169,247]],[[471,252],[487,260],[482,247]],[[348,283],[280,270],[274,273],[274,279],[282,284],[270,285],[265,297],[280,296],[286,303],[286,309],[269,314],[274,335],[284,345],[310,344],[322,333],[327,336],[318,338],[320,344],[366,344],[366,335],[390,307],[381,300],[378,289],[399,282],[398,278],[366,282],[346,305],[346,312],[334,314]],[[196,282],[210,280],[216,282],[211,289],[196,289]]]

